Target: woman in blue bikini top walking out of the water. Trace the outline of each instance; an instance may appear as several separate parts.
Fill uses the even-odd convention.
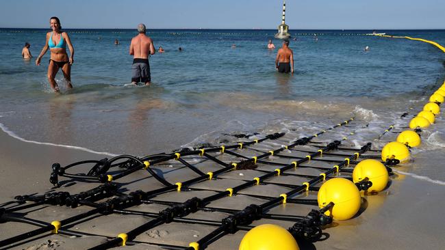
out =
[[[36,65],[40,65],[40,59],[47,53],[49,48],[51,57],[48,65],[48,81],[55,92],[60,92],[58,84],[54,80],[55,74],[57,74],[59,68],[62,68],[67,87],[70,89],[73,88],[73,85],[71,85],[71,65],[74,62],[74,48],[68,33],[60,30],[62,29],[62,26],[60,25],[59,18],[56,16],[51,17],[49,19],[49,25],[51,25],[52,31],[47,33],[47,42],[45,42],[42,52],[40,52],[40,55],[38,55],[36,59]],[[71,53],[71,57],[69,58],[66,53],[67,44]]]

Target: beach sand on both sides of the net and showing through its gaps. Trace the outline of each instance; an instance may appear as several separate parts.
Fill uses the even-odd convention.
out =
[[[49,183],[51,165],[55,161],[62,166],[75,161],[86,159],[100,159],[105,156],[82,152],[68,148],[61,148],[51,145],[37,145],[25,143],[14,139],[0,131],[0,203],[12,200],[15,195],[31,193],[44,193],[53,188]],[[203,171],[212,169],[210,165],[203,165]],[[404,167],[401,170],[406,170]],[[196,176],[184,169],[174,170],[173,168],[160,168],[168,174],[168,180],[175,183],[177,180],[184,180],[191,176]],[[244,174],[242,178],[251,179],[255,173],[251,170],[240,171]],[[215,180],[212,184],[201,182],[194,185],[195,188],[212,189],[214,191],[224,190],[227,185],[242,183],[240,175],[226,173],[225,178],[231,180]],[[138,182],[132,182],[138,180]],[[289,183],[286,176],[274,180],[280,183]],[[147,178],[147,173],[134,173],[131,178],[123,178],[120,182],[128,182],[129,189],[140,188],[140,183],[144,183],[144,191],[160,187],[153,178]],[[97,184],[80,184],[66,188],[70,192],[84,191]],[[282,186],[268,184],[267,189],[249,188],[241,193],[259,195],[277,195],[283,192]],[[58,191],[64,191],[64,188]],[[190,193],[172,192],[158,196],[159,200],[176,200],[178,202],[198,196],[205,197],[213,194],[214,191],[194,191]],[[264,193],[261,193],[264,192]],[[305,195],[303,195],[305,196]],[[314,194],[309,194],[314,198]],[[329,234],[326,240],[315,242],[314,244],[301,245],[301,249],[444,249],[444,227],[445,220],[442,217],[442,208],[445,206],[445,186],[411,178],[410,176],[393,176],[391,186],[378,195],[364,196],[364,212],[348,221],[335,221],[331,227],[324,230]],[[212,203],[213,207],[219,208],[244,208],[255,203],[264,202],[264,199],[249,197],[246,195],[236,195],[225,197]],[[157,212],[166,208],[163,205],[149,204],[141,205],[133,210],[144,210]],[[272,208],[270,212],[275,214],[298,214],[305,215],[315,206],[301,206],[295,204],[281,205]],[[52,221],[55,218],[69,217],[89,210],[89,208],[79,207],[75,209],[47,206],[36,211],[30,211],[26,216],[40,219],[42,221]],[[226,217],[223,212],[196,212],[190,214],[188,218],[214,219],[219,221]],[[127,232],[134,227],[149,221],[148,218],[138,216],[123,216],[110,214],[107,217],[96,217],[84,223],[79,223],[71,228],[79,232],[99,234],[102,236],[114,237],[121,232]],[[262,223],[279,223],[283,226],[290,226],[293,223],[283,221],[270,221],[262,219],[255,221],[253,225]],[[0,240],[35,229],[32,225],[23,223],[0,223]],[[157,242],[171,245],[188,245],[208,234],[215,227],[192,225],[184,223],[170,223],[155,227],[136,238],[139,241]],[[229,235],[217,240],[207,249],[238,249],[238,244],[245,234],[239,231],[234,235]],[[14,245],[13,249],[87,249],[103,242],[102,237],[88,236],[81,238],[71,238],[62,235],[45,235],[35,238],[21,245]],[[139,244],[128,249],[159,249],[152,245]]]

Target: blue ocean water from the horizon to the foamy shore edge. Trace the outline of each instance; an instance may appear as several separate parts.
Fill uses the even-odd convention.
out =
[[[135,30],[67,31],[75,47],[74,89],[66,91],[59,72],[63,93],[54,94],[46,77],[49,52],[41,66],[34,64],[47,30],[0,29],[0,124],[10,135],[144,156],[236,141],[234,133],[312,135],[356,117],[360,133],[350,143],[359,146],[391,124],[407,126],[400,115],[420,111],[445,77],[445,53],[435,46],[365,35],[371,31],[291,31],[295,73],[288,75],[275,70],[281,42],[272,39],[274,30],[171,29],[147,33],[166,53],[150,59],[152,85],[133,87],[129,42]],[[379,32],[445,45],[444,30]],[[273,51],[266,49],[269,39]],[[31,61],[21,58],[25,42]],[[422,137],[424,145],[413,153],[435,165],[433,156],[445,152],[443,118]],[[444,170],[415,162],[411,173],[445,181]]]

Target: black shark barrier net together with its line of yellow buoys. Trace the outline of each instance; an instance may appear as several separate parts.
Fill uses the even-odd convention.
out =
[[[90,249],[198,250],[231,234],[243,235],[239,248],[244,250],[299,249],[305,242],[326,240],[329,234],[323,230],[333,221],[366,212],[363,195],[390,188],[392,167],[409,158],[409,148],[420,146],[422,128],[440,115],[444,96],[445,82],[424,107],[400,115],[402,124],[410,119],[407,126],[387,124],[361,147],[343,146],[367,126],[351,117],[300,138],[292,133],[237,135],[237,143],[170,154],[120,155],[64,167],[54,163],[53,190],[0,204],[2,227],[20,223],[31,228],[0,236],[0,249],[52,234],[99,237]],[[340,136],[320,141],[327,133]],[[397,140],[372,147],[387,133],[397,133]],[[91,230],[89,223],[98,219],[105,221],[105,233]],[[190,238],[163,242],[160,234],[167,226],[190,231],[185,233]],[[203,228],[201,234],[193,233],[195,227]]]

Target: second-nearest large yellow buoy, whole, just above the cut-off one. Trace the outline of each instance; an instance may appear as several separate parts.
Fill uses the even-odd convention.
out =
[[[351,180],[333,178],[322,186],[317,195],[318,206],[324,208],[330,202],[334,206],[325,212],[336,220],[351,219],[360,209],[360,191]]]

